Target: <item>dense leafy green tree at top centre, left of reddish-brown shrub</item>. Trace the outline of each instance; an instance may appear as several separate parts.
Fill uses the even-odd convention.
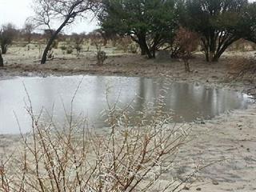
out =
[[[104,0],[98,19],[103,31],[130,36],[148,58],[174,40],[178,27],[174,0]]]

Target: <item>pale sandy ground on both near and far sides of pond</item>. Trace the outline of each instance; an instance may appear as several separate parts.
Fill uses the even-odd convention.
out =
[[[65,58],[58,57],[46,65],[39,65],[37,54],[21,55],[20,52],[21,50],[13,48],[10,54],[4,55],[6,66],[0,69],[0,78],[70,74],[165,76],[177,82],[198,82],[249,94],[255,94],[256,90],[256,82],[252,79],[230,78],[232,71],[229,70],[229,64],[234,53],[226,54],[220,62],[210,65],[198,54],[190,61],[192,72],[185,73],[179,60],[148,60],[136,54],[115,54],[109,56],[103,66],[96,66],[93,53],[82,53],[79,57],[64,55]],[[205,124],[196,124],[193,127],[193,134],[198,137],[180,151],[179,158],[187,162],[182,166],[181,174],[186,172],[190,162],[211,162],[223,158],[226,161],[200,171],[198,179],[185,190],[256,191],[256,105],[251,104],[247,110],[222,114],[206,121]],[[0,148],[8,148],[15,142],[18,142],[18,136],[0,135]],[[165,176],[168,181],[168,175]]]

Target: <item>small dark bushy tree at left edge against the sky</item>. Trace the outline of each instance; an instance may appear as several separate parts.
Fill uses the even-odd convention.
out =
[[[0,30],[2,54],[6,54],[8,46],[10,46],[13,42],[16,32],[17,31],[15,30],[15,26],[11,23],[2,26],[2,29]]]

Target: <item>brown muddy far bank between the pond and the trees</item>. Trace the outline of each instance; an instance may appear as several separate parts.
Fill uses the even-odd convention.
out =
[[[178,59],[146,59],[137,54],[110,56],[103,66],[95,65],[94,57],[55,58],[45,65],[38,60],[10,60],[0,69],[0,77],[98,74],[137,77],[168,77],[176,82],[198,82],[206,86],[217,86],[254,94],[255,82],[251,79],[234,79],[230,73],[230,57],[218,63],[205,62],[202,54],[190,61],[191,72],[186,73]]]

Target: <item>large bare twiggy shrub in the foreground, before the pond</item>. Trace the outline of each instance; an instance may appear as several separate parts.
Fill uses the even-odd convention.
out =
[[[164,171],[174,168],[189,132],[168,124],[170,116],[162,113],[162,106],[151,114],[138,112],[134,119],[129,106],[118,110],[109,105],[106,133],[90,130],[85,118],[75,119],[72,106],[65,126],[59,127],[53,120],[42,122],[42,113],[35,115],[30,102],[32,133],[22,135],[17,157],[2,161],[1,190],[180,191],[194,175],[163,186],[158,182]]]

